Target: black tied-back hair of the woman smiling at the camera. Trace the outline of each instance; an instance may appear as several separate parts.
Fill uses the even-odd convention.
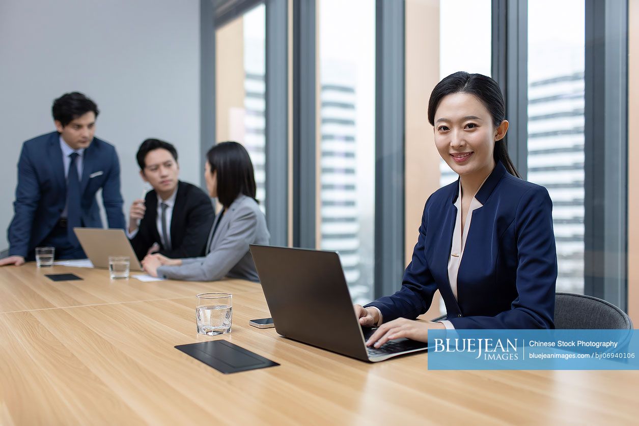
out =
[[[499,89],[497,82],[490,77],[486,77],[486,75],[459,71],[438,82],[435,89],[433,89],[433,93],[431,93],[431,98],[428,101],[428,121],[432,126],[435,126],[435,111],[442,98],[453,93],[468,93],[475,96],[488,109],[490,115],[493,116],[495,127],[504,121],[506,107],[504,96],[502,96],[502,91]],[[511,158],[508,156],[505,137],[495,142],[493,158],[495,158],[495,162],[502,162],[510,174],[521,178],[514,164],[512,164]]]

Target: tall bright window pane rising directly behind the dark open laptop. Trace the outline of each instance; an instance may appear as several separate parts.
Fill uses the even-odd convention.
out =
[[[351,298],[373,298],[375,2],[319,1],[317,245],[337,250]]]

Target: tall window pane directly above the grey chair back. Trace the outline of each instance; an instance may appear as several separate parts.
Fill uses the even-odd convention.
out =
[[[552,13],[548,13],[548,11]],[[583,0],[528,2],[528,180],[548,189],[557,291],[583,294]]]

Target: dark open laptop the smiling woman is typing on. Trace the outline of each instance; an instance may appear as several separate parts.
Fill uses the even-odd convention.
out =
[[[380,348],[364,343],[337,252],[250,245],[277,333],[362,361],[426,351],[427,344],[396,339]]]

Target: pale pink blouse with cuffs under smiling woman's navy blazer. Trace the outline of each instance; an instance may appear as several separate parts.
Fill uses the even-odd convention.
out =
[[[486,179],[488,179],[488,176],[486,176]],[[484,182],[486,182],[486,179],[484,179]],[[484,182],[482,182],[481,185],[479,185],[479,188],[477,188],[477,192],[479,192],[481,187],[484,186]],[[475,195],[477,195],[477,192],[475,192],[475,195],[473,195],[472,201],[470,201],[468,213],[466,213],[465,226],[462,231],[461,229],[461,181],[459,181],[458,186],[459,188],[458,188],[457,201],[455,201],[455,204],[454,204],[454,206],[457,208],[457,218],[455,220],[455,228],[452,231],[452,243],[450,245],[450,257],[448,259],[448,280],[450,282],[450,289],[452,289],[452,294],[453,296],[455,296],[455,300],[457,300],[457,274],[459,271],[459,264],[461,264],[461,258],[464,255],[464,247],[466,247],[466,238],[468,238],[468,230],[470,229],[470,220],[473,217],[473,210],[476,210],[484,206],[484,204],[481,204],[481,202],[477,201],[477,199],[475,198]],[[381,311],[378,307],[371,306],[371,308],[375,308],[377,310],[380,316],[380,320],[378,321],[377,325],[380,326],[381,323],[383,322],[383,319],[381,317]],[[438,321],[438,322],[442,323],[447,330],[455,330],[452,323],[450,323],[450,321],[448,321],[447,319],[444,319],[443,321]]]

